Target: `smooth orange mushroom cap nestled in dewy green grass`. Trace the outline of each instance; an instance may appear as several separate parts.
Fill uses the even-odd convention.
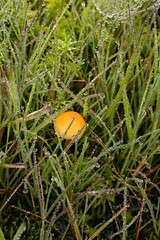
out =
[[[66,132],[66,135],[64,136],[65,139],[69,140],[69,139],[73,139],[73,137],[77,135],[78,132],[84,127],[85,121],[79,113],[74,111],[68,111],[60,114],[56,118],[55,124],[59,132],[59,135],[61,137],[65,134],[68,127],[70,126],[68,131]],[[84,131],[85,131],[85,127],[83,128],[81,133],[78,135],[78,139],[83,135]]]

